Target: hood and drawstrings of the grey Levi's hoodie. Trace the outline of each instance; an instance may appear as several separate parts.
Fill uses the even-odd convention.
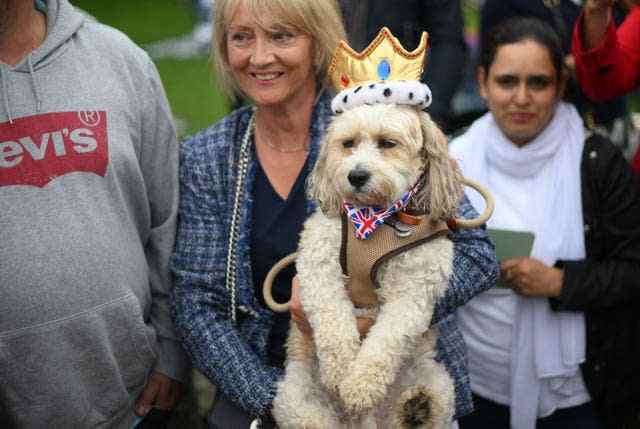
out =
[[[55,61],[64,53],[69,40],[82,26],[85,16],[78,12],[67,0],[47,0],[47,35],[44,42],[23,58],[15,67],[0,63],[0,95],[9,122],[13,123],[11,109],[12,73],[29,73],[31,90],[36,101],[36,112],[42,108],[39,79],[36,72]]]

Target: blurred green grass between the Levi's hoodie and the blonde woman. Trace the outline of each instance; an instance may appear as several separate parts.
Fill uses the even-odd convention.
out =
[[[123,31],[139,45],[187,34],[195,23],[190,0],[71,2],[100,22]],[[207,127],[229,112],[229,103],[215,86],[208,58],[163,59],[156,65],[182,137]]]

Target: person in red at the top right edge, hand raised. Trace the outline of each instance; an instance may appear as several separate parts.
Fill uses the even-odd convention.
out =
[[[612,0],[587,0],[576,21],[572,53],[582,90],[596,101],[609,100],[640,87],[640,6],[616,30]],[[632,168],[640,175],[640,148]]]

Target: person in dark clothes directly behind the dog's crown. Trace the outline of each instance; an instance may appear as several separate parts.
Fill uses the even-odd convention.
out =
[[[407,49],[418,47],[429,33],[429,52],[422,80],[433,88],[427,109],[445,133],[453,131],[451,100],[462,81],[467,59],[460,0],[341,0],[350,45],[360,51],[382,27],[388,27]]]

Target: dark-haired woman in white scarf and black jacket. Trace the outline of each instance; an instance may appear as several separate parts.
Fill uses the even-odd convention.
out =
[[[530,256],[500,262],[508,287],[458,310],[475,405],[461,429],[640,421],[640,186],[562,101],[566,79],[549,25],[503,22],[478,69],[489,112],[451,143],[495,198],[488,227],[535,235]]]

